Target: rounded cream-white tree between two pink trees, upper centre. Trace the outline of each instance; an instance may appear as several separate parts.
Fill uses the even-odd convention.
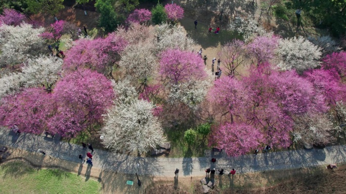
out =
[[[122,52],[119,66],[136,85],[147,85],[149,78],[155,75],[158,63],[151,50],[150,44],[133,44]]]

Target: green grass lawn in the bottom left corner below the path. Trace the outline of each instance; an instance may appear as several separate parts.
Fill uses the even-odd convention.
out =
[[[0,165],[0,193],[101,193],[96,180],[85,181],[77,174],[58,170],[36,170],[23,162]]]

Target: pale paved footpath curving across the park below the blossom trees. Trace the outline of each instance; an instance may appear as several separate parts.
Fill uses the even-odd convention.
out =
[[[12,148],[19,148],[30,152],[44,150],[46,157],[51,156],[72,162],[80,162],[78,154],[86,154],[79,145],[54,140],[32,134],[16,135],[10,130],[0,129],[0,144]],[[205,168],[223,168],[229,171],[231,168],[237,173],[248,173],[265,170],[279,170],[327,165],[329,163],[346,162],[346,146],[330,146],[324,149],[290,150],[282,152],[270,152],[240,157],[215,157],[217,162],[211,164],[210,157],[200,158],[165,158],[165,157],[133,157],[124,154],[97,150],[93,152],[93,167],[112,170],[116,172],[134,174],[146,174],[155,176],[171,176],[176,168],[180,169],[180,175],[195,176],[204,175]]]

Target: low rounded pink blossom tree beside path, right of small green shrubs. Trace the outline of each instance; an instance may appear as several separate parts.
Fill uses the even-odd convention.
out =
[[[229,156],[240,156],[258,148],[262,139],[261,132],[252,125],[226,122],[214,130],[209,146],[215,144]]]

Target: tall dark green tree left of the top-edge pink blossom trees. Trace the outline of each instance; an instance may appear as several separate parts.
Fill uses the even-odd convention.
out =
[[[114,0],[97,0],[95,7],[100,13],[99,26],[106,33],[113,32],[117,26],[124,20],[122,15],[117,15],[114,11]]]

